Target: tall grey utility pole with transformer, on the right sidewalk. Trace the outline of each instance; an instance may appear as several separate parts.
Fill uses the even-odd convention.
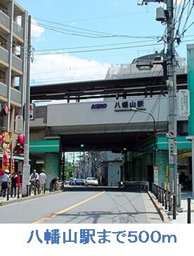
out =
[[[174,49],[174,1],[173,0],[142,0],[141,4],[150,2],[163,2],[167,5],[164,16],[157,17],[157,20],[167,22],[167,86],[169,89],[169,189],[176,195],[176,205],[178,202],[177,189],[177,144],[176,144],[176,59]]]

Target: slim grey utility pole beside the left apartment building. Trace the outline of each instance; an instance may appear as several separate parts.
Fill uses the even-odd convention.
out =
[[[30,60],[31,60],[31,16],[28,16],[27,30],[27,79],[26,79],[26,102],[25,102],[25,147],[24,147],[24,164],[22,172],[22,197],[27,195],[27,185],[30,177],[29,164],[29,142],[30,142]]]

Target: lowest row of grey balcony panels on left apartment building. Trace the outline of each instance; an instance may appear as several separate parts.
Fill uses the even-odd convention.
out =
[[[8,87],[4,83],[0,83],[0,98],[8,102]],[[22,92],[11,87],[11,104],[22,106]]]

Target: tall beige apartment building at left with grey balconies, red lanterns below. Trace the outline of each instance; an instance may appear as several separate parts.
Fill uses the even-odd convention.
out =
[[[27,73],[27,11],[14,0],[0,1],[0,168],[22,171],[22,116]],[[18,141],[18,136],[19,141]],[[11,157],[13,159],[11,160]],[[11,166],[12,164],[12,166]]]

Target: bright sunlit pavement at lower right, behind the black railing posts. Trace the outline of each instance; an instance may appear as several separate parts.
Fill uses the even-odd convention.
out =
[[[176,215],[176,219],[172,219],[172,215],[169,215],[169,218],[170,218],[169,223],[187,224],[187,208],[188,208],[187,198],[188,197],[190,197],[191,199],[191,203],[190,203],[191,224],[194,224],[194,197],[191,197],[191,193],[186,193],[186,192],[181,193],[181,208],[183,208],[183,212],[178,212],[178,214]]]

